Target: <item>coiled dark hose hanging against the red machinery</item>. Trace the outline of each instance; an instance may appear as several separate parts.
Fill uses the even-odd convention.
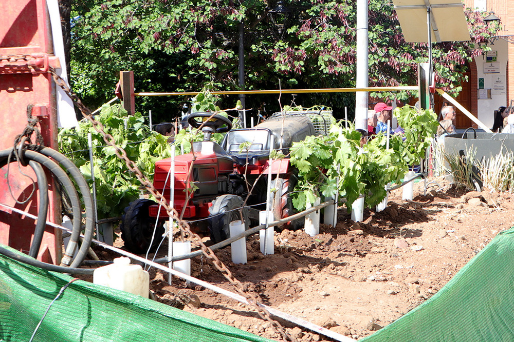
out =
[[[46,167],[52,174],[54,179],[62,186],[66,196],[68,197],[71,203],[71,210],[73,215],[73,229],[70,236],[70,242],[66,248],[66,251],[63,256],[62,265],[65,266],[56,266],[50,265],[47,263],[42,263],[38,260],[33,260],[28,257],[21,257],[16,253],[12,253],[5,248],[0,247],[0,253],[5,254],[11,258],[22,261],[24,263],[29,263],[28,260],[34,266],[38,266],[47,270],[64,272],[64,273],[79,273],[77,269],[78,266],[84,261],[89,246],[91,244],[91,240],[93,239],[94,233],[94,210],[93,210],[93,200],[91,199],[91,194],[89,190],[89,186],[87,185],[86,180],[82,176],[80,170],[63,154],[59,153],[56,150],[52,150],[47,147],[40,147],[38,145],[26,145],[27,149],[23,150],[23,159],[29,160],[28,164],[34,170],[36,174],[36,178],[39,184],[40,189],[40,199],[39,199],[39,210],[38,210],[38,224],[36,224],[34,231],[34,238],[32,240],[32,244],[30,247],[29,255],[32,257],[37,256],[41,240],[43,236],[43,232],[46,226],[46,215],[47,215],[47,206],[48,206],[48,193],[44,191],[47,189],[47,180],[46,175],[41,166]],[[6,166],[8,163],[16,161],[16,154],[12,153],[13,149],[6,149],[0,151],[0,168]],[[11,157],[9,157],[11,156]],[[51,158],[51,159],[50,159]],[[53,160],[56,160],[57,163],[62,165],[62,168]],[[22,162],[22,161],[20,161]],[[25,162],[25,160],[23,160]],[[23,163],[22,163],[23,164]],[[79,191],[82,195],[82,199],[84,200],[84,209],[86,212],[86,224],[84,231],[84,238],[82,240],[81,246],[77,252],[75,258],[73,255],[78,246],[78,241],[81,232],[81,217],[82,217],[82,209],[80,204],[79,195],[77,190],[75,189],[74,184],[72,183],[70,177],[65,172],[65,170],[71,175],[71,177],[75,180]],[[44,186],[43,186],[44,185]],[[42,194],[46,193],[46,194]],[[46,195],[46,200],[45,200]],[[69,266],[69,267],[67,267]],[[85,271],[85,270],[84,270]],[[93,270],[87,270],[93,271]],[[82,271],[80,271],[82,273]]]

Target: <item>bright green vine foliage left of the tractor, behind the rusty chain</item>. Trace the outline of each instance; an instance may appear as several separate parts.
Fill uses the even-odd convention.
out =
[[[171,155],[166,136],[150,131],[140,113],[127,116],[119,105],[104,105],[100,115],[95,116],[111,134],[117,146],[123,148],[127,157],[150,179],[153,178],[155,162]],[[94,177],[98,202],[98,217],[121,216],[123,208],[138,198],[140,183],[130,172],[125,162],[119,159],[89,120],[82,120],[78,127],[59,132],[59,148],[93,186],[87,135],[91,133],[94,154]]]

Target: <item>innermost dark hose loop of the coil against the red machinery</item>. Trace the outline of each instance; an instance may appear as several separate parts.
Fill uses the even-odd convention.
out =
[[[41,164],[29,161],[29,165],[34,170],[36,179],[38,180],[39,200],[38,200],[38,222],[35,225],[34,237],[30,245],[29,256],[38,257],[38,252],[43,240],[43,234],[46,228],[46,215],[48,213],[48,191],[46,186],[48,181],[46,179],[45,171]]]

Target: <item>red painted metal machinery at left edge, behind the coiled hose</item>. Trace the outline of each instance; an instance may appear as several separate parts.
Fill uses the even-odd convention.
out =
[[[59,68],[53,56],[45,0],[9,0],[0,2],[0,150],[13,147],[14,137],[27,126],[29,114],[39,120],[44,145],[57,149],[56,89],[49,67]],[[12,164],[0,169],[0,204],[36,214],[38,196],[32,191],[34,173],[30,167]],[[7,176],[9,176],[7,178]],[[7,181],[7,179],[9,179]],[[51,178],[48,178],[51,179]],[[48,220],[60,222],[60,200],[53,183],[49,188]],[[0,243],[27,252],[31,245],[34,220],[0,207]],[[61,234],[49,228],[43,235],[38,258],[58,264],[61,259]]]

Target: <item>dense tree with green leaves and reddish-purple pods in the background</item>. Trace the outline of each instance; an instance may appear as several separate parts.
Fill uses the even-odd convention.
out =
[[[237,90],[238,23],[245,26],[246,89],[355,86],[355,2],[293,0],[287,14],[260,0],[84,0],[73,5],[81,21],[72,32],[71,79],[85,102],[113,96],[120,70],[133,70],[137,91]],[[413,85],[426,44],[405,43],[391,3],[370,0],[370,86]],[[458,92],[463,61],[483,52],[490,36],[484,14],[467,11],[472,43],[433,46],[437,82]],[[384,95],[384,94],[378,94]],[[409,94],[386,94],[406,99]],[[353,93],[298,94],[297,105],[328,105],[352,112]],[[293,97],[282,95],[282,104]],[[160,119],[178,115],[186,97],[138,99]],[[221,97],[232,107],[235,99]],[[279,109],[277,95],[247,96],[253,114]]]

